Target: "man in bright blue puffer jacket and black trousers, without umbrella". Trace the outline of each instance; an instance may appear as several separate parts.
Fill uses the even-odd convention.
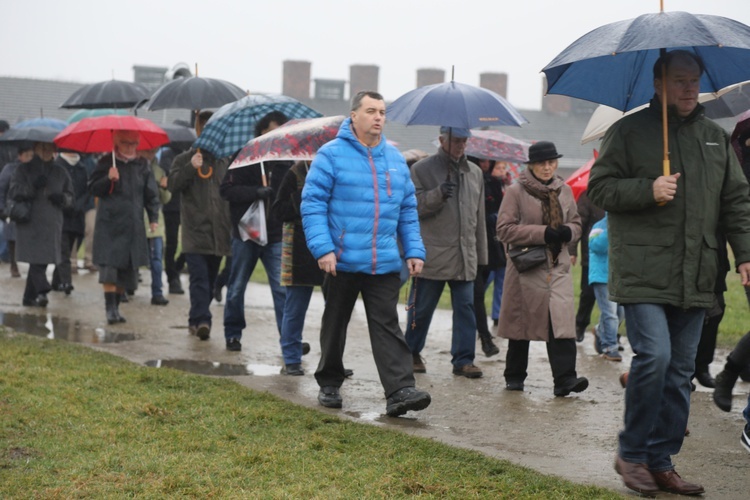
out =
[[[302,191],[307,246],[327,273],[320,330],[321,358],[315,372],[318,402],[341,408],[346,329],[362,293],[373,357],[388,398],[386,413],[403,415],[430,404],[415,389],[411,353],[399,326],[401,241],[409,273],[422,270],[425,248],[417,200],[406,161],[383,136],[385,102],[377,92],[359,92],[351,116],[318,150]]]

